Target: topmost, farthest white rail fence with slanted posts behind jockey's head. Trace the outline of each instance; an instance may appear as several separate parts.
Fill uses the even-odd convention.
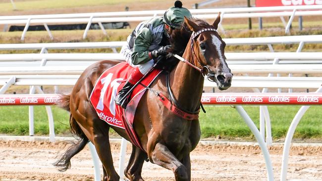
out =
[[[30,24],[43,24],[53,39],[53,35],[48,27],[48,23],[87,23],[83,38],[92,23],[99,23],[104,34],[107,34],[102,22],[139,22],[160,16],[165,10],[154,11],[126,11],[126,12],[100,12],[100,13],[79,13],[79,14],[49,14],[49,15],[23,15],[23,16],[0,16],[0,24],[24,24],[25,28],[21,35],[24,40],[25,34]],[[217,9],[191,9],[191,13],[196,18],[215,19],[218,12],[222,12],[223,18],[255,18],[255,17],[280,17],[285,33],[289,32],[289,27],[294,16],[320,16],[322,15],[322,5],[301,5],[301,6],[275,6],[275,7],[246,7],[246,8],[217,8]],[[288,23],[284,16],[290,16]],[[222,21],[221,21],[222,22]],[[221,23],[220,23],[221,25]],[[222,28],[222,27],[221,27]],[[223,29],[222,29],[223,30]]]

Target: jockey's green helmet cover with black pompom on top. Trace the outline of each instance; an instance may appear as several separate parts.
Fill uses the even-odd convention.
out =
[[[187,18],[192,17],[190,11],[187,8],[182,7],[182,2],[180,0],[176,0],[174,2],[174,6],[170,7],[163,14],[163,22],[171,28],[181,28],[184,16]]]

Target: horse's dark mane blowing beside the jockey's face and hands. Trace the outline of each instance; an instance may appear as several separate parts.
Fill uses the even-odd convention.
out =
[[[201,19],[191,18],[190,20],[202,28],[209,28],[211,26],[206,21]],[[190,29],[185,23],[182,23],[181,28],[173,32],[173,35],[170,39],[170,45],[172,46],[173,53],[179,56],[183,55],[183,52],[186,49],[190,40],[191,34],[192,31],[190,31]],[[179,60],[175,57],[165,58],[165,60],[159,63],[158,67],[170,71],[178,62]]]

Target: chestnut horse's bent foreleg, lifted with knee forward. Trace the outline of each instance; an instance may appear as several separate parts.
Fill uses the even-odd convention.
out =
[[[162,143],[157,143],[150,154],[151,162],[172,170],[175,181],[190,181],[187,168]]]

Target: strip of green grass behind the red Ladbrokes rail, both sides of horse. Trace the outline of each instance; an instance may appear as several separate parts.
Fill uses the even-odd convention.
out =
[[[259,128],[259,107],[243,106],[255,125]],[[69,134],[69,114],[53,106],[54,127],[56,135]],[[206,106],[207,113],[200,113],[202,137],[245,138],[254,136],[246,123],[230,106]],[[292,119],[300,106],[268,106],[274,139],[284,138]],[[322,138],[321,106],[311,106],[301,119],[294,138]],[[48,135],[48,118],[44,106],[35,106],[35,134]],[[28,135],[28,107],[1,106],[0,134]]]

